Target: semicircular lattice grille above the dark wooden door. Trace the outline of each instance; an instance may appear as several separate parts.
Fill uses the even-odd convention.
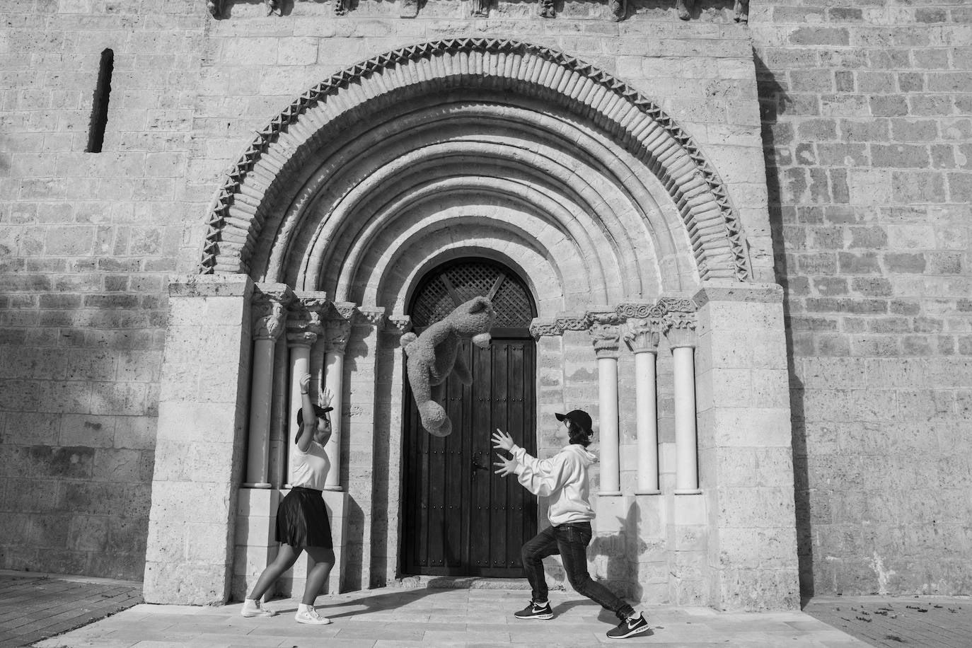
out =
[[[412,302],[412,324],[435,324],[476,296],[490,297],[496,326],[528,328],[534,319],[533,301],[519,277],[482,261],[461,261],[441,268],[426,279]]]

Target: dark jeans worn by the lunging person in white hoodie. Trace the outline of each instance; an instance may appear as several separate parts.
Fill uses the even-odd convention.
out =
[[[572,522],[557,527],[547,527],[523,545],[523,568],[533,589],[533,599],[546,600],[546,578],[542,560],[560,554],[571,587],[585,597],[610,610],[621,621],[635,613],[628,603],[615,597],[608,588],[587,573],[587,545],[591,543],[591,523]]]

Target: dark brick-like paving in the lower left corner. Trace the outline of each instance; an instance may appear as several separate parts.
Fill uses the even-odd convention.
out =
[[[28,645],[141,602],[141,583],[0,570],[0,648]]]

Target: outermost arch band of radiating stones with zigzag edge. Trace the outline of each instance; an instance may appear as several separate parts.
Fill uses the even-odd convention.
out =
[[[750,280],[746,238],[726,188],[675,120],[631,86],[578,58],[529,43],[491,38],[448,39],[387,51],[337,72],[299,95],[257,132],[227,173],[207,221],[198,272],[249,272],[264,199],[270,197],[271,185],[284,165],[320,127],[319,123],[315,126],[320,119],[308,118],[307,124],[301,124],[302,116],[342,91],[350,93],[344,104],[364,103],[369,98],[362,90],[364,81],[386,70],[396,69],[402,85],[431,81],[436,78],[434,57],[449,56],[457,60],[438,67],[444,64],[453,74],[500,76],[545,85],[623,129],[625,139],[649,153],[650,166],[675,201],[688,229],[700,279]],[[528,58],[528,64],[520,64]],[[405,69],[419,62],[423,63],[413,65],[413,70]],[[401,80],[404,77],[409,77],[408,82]],[[351,89],[352,85],[356,87]],[[386,84],[382,88],[388,89]],[[245,187],[254,175],[256,179]]]

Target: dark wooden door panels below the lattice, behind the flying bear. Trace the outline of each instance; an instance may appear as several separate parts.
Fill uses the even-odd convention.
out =
[[[506,325],[494,327],[489,349],[466,342],[460,353],[472,384],[446,383],[449,436],[421,426],[406,381],[402,572],[522,577],[520,548],[537,533],[537,498],[515,476],[494,474],[490,437],[500,427],[537,455],[536,345],[527,328]]]

